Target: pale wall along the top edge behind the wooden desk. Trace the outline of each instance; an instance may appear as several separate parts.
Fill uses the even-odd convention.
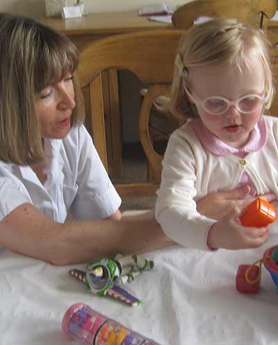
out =
[[[161,0],[85,0],[86,11],[92,12],[115,12],[138,10],[144,5],[161,3]],[[167,0],[170,6],[180,5],[188,0]],[[35,17],[45,16],[44,0],[0,0],[0,12],[9,12],[18,15],[31,15]]]

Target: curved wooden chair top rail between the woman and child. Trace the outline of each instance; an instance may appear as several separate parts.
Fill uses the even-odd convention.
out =
[[[171,82],[172,62],[182,33],[152,30],[96,40],[80,54],[79,82],[88,85],[102,70],[110,68],[131,70],[144,84]]]

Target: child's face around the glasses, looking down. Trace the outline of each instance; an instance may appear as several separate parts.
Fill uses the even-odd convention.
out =
[[[261,61],[250,54],[248,67],[242,67],[242,73],[234,66],[220,64],[190,68],[188,82],[193,98],[204,100],[211,96],[221,96],[228,100],[256,94],[263,95],[265,89],[264,70]],[[241,113],[231,105],[224,114],[208,114],[201,105],[196,105],[202,123],[213,135],[233,147],[241,147],[250,139],[254,125],[263,111],[263,101],[253,112]]]

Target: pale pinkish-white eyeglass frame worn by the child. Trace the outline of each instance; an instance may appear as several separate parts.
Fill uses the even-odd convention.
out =
[[[240,98],[238,98],[237,100],[228,100],[227,98],[224,98],[222,96],[218,96],[218,95],[213,95],[213,96],[209,96],[207,98],[205,98],[204,100],[196,100],[192,93],[190,93],[190,91],[188,90],[188,88],[186,87],[186,85],[183,85],[184,90],[186,91],[186,93],[188,94],[188,97],[196,104],[196,105],[200,105],[208,114],[213,115],[213,116],[220,116],[222,114],[224,114],[225,112],[227,112],[227,110],[231,107],[231,105],[234,105],[236,107],[236,109],[238,110],[238,112],[242,113],[242,114],[251,114],[252,112],[254,112],[256,110],[252,109],[250,112],[243,112],[239,107],[238,107],[238,103],[243,100],[244,98],[248,98],[248,97],[256,97],[259,98],[259,100],[263,103],[267,102],[268,97],[265,97],[264,95],[258,95],[256,93],[249,93],[247,95],[241,96]],[[227,104],[227,108],[224,109],[223,112],[220,113],[213,113],[211,111],[209,111],[208,109],[206,109],[206,107],[204,106],[205,102],[211,98],[216,98],[217,100],[224,100],[224,102],[226,102]]]

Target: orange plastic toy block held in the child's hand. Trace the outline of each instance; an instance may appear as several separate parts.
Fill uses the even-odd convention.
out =
[[[245,227],[266,227],[275,221],[276,210],[268,201],[258,198],[245,208],[239,219]]]

